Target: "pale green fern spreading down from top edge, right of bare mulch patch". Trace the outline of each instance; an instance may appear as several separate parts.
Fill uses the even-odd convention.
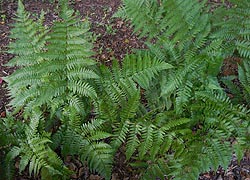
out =
[[[222,40],[210,36],[210,15],[204,13],[204,3],[127,0],[123,7],[126,18],[135,27],[135,32],[146,35],[148,40],[155,38],[154,43],[146,43],[150,54],[156,60],[173,65],[167,72],[159,74],[159,82],[145,88],[148,90],[147,98],[151,99],[151,94],[160,97],[158,100],[154,98],[154,102],[150,100],[150,106],[155,107],[160,103],[163,107],[171,108],[174,104],[176,111],[181,113],[191,98],[191,87],[206,83],[206,76],[212,76],[212,72],[216,76],[223,60]],[[140,9],[142,13],[139,13]]]

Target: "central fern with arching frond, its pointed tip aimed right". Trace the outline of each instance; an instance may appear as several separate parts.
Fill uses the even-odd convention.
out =
[[[123,122],[133,119],[140,107],[140,91],[136,83],[147,89],[159,72],[172,67],[146,53],[139,53],[138,56],[138,59],[135,59],[134,55],[127,56],[121,70],[117,63],[113,64],[112,71],[107,67],[101,67],[99,77],[102,78],[97,80],[97,84],[98,94],[103,98],[96,104],[100,118],[109,119],[114,123],[117,119]],[[122,111],[119,111],[119,106],[122,107]]]

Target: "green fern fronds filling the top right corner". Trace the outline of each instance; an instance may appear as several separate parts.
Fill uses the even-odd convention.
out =
[[[232,55],[235,50],[244,58],[250,58],[249,39],[249,3],[247,0],[232,0],[232,8],[220,8],[216,11],[214,36],[223,38],[227,44],[227,54]]]

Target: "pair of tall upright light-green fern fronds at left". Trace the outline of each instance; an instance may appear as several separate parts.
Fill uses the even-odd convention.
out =
[[[67,99],[66,94],[96,97],[95,90],[87,82],[98,78],[87,68],[95,64],[90,59],[93,53],[88,24],[80,24],[79,18],[67,7],[62,9],[62,21],[56,22],[48,31],[42,24],[29,19],[19,1],[17,23],[12,30],[16,41],[10,44],[10,53],[17,56],[9,65],[19,65],[20,69],[6,78],[11,105],[17,109],[24,104],[27,109],[50,104],[59,96],[69,101],[71,98]],[[30,43],[30,39],[34,42]],[[48,44],[46,47],[45,43]],[[27,51],[19,52],[23,46]]]

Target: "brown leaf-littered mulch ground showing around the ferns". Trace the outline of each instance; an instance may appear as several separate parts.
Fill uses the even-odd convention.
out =
[[[213,0],[214,6],[219,5],[218,0]],[[134,49],[144,49],[143,40],[139,39],[134,33],[129,23],[118,18],[112,18],[114,12],[120,6],[120,0],[75,0],[72,6],[78,10],[82,19],[88,18],[91,22],[91,31],[96,35],[94,49],[96,51],[95,59],[106,65],[111,65],[112,59],[122,60],[123,57]],[[55,10],[58,3],[51,3],[48,0],[26,0],[26,10],[31,12],[34,17],[43,9],[45,11],[45,24],[50,26],[53,20],[58,18],[58,12]],[[4,66],[13,55],[6,52],[11,39],[11,25],[13,17],[17,10],[16,1],[3,1],[0,8],[0,117],[5,117],[5,111],[8,109],[7,84],[1,77],[8,76],[15,71],[15,68]],[[237,74],[237,63],[225,61],[222,74]],[[135,180],[138,174],[125,163],[125,157],[122,153],[117,153],[116,163],[113,169],[112,180]],[[72,179],[90,179],[101,180],[102,177],[91,174],[87,167],[83,166],[77,158],[68,157],[65,164],[73,170],[75,175]],[[16,163],[18,167],[18,161]],[[16,169],[18,172],[18,168]],[[1,175],[0,175],[1,179]],[[28,172],[22,175],[16,175],[16,180],[33,179],[28,176]],[[39,179],[39,177],[37,178]],[[233,156],[227,170],[218,168],[216,171],[210,171],[201,174],[199,180],[250,180],[250,153],[246,153],[244,158],[238,163]]]

